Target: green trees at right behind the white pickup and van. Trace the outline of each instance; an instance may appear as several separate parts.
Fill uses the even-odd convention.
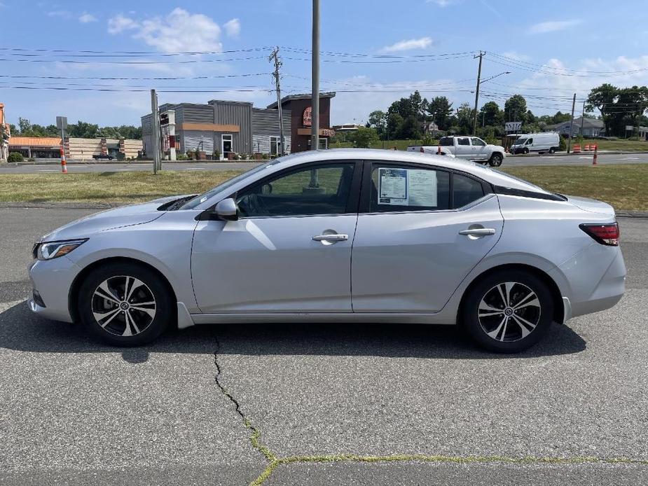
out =
[[[648,88],[616,88],[609,84],[593,88],[585,104],[586,118],[597,118],[593,113],[595,109],[600,111],[598,118],[605,124],[608,136],[624,137],[626,125],[648,125],[648,118],[644,116],[648,109]],[[415,91],[393,102],[387,111],[372,111],[366,127],[375,130],[376,137],[382,140],[422,139],[427,132],[425,127],[431,123],[436,125],[436,130],[448,134],[472,134],[474,114],[469,103],[454,108],[453,102],[445,96],[428,100]],[[481,106],[477,113],[476,135],[491,139],[501,137],[505,134],[504,123],[509,121],[521,121],[525,132],[542,132],[570,118],[571,113],[562,111],[536,116],[528,109],[522,95],[513,95],[506,99],[503,108],[497,102]]]

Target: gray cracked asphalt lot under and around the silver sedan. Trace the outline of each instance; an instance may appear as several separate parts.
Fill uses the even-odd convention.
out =
[[[91,212],[0,208],[0,484],[648,482],[648,218],[619,305],[497,356],[401,324],[100,345],[25,304],[34,238]]]

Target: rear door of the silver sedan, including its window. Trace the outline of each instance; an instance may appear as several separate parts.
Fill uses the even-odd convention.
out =
[[[468,174],[366,164],[352,254],[354,312],[438,312],[502,234],[497,197]]]

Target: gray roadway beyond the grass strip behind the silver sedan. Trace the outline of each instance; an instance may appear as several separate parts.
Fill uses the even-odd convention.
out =
[[[579,155],[516,155],[504,159],[504,167],[525,166],[525,165],[591,165],[593,153],[581,153]],[[648,153],[601,153],[598,154],[600,165],[611,164],[644,164],[648,162]],[[202,170],[249,170],[256,167],[258,162],[164,162],[164,170],[178,171],[202,171]],[[68,172],[135,172],[152,171],[151,164],[141,163],[77,163],[71,162],[67,165]],[[34,162],[33,165],[0,165],[0,174],[48,174],[61,172],[57,164],[45,164]]]

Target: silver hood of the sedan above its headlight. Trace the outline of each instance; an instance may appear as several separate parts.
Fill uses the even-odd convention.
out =
[[[150,223],[165,214],[164,211],[158,211],[161,204],[179,197],[181,196],[160,197],[144,204],[132,204],[91,214],[49,232],[41,238],[41,241],[85,238],[100,231]]]

